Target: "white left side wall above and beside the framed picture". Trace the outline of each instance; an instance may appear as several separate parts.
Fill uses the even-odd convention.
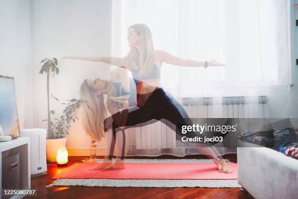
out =
[[[0,75],[15,78],[20,128],[33,126],[30,0],[0,0]]]

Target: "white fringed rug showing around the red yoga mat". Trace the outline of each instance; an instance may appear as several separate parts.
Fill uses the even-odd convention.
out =
[[[86,161],[86,160],[82,160]],[[99,159],[98,162],[101,162]],[[212,159],[125,159],[125,162],[212,162]],[[100,186],[100,187],[241,187],[237,179],[57,179],[52,186]]]

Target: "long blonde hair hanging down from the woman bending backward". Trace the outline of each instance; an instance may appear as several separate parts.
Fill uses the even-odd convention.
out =
[[[95,89],[90,87],[87,80],[84,80],[80,87],[80,97],[87,100],[82,106],[82,123],[86,134],[96,141],[105,137],[104,120],[107,118],[107,110],[103,94],[95,95]],[[114,96],[115,88],[111,81],[108,81],[107,95]],[[107,106],[112,103],[108,101]]]

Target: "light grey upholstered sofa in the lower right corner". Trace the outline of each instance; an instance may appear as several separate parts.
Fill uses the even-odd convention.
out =
[[[298,159],[238,140],[238,183],[256,199],[297,199]]]

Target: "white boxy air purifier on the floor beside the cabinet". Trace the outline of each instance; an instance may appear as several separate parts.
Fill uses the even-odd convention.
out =
[[[46,129],[20,130],[21,137],[30,138],[31,176],[43,175],[47,171],[46,135]]]

